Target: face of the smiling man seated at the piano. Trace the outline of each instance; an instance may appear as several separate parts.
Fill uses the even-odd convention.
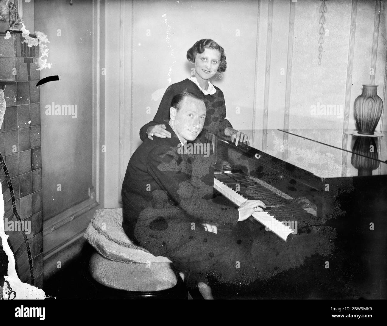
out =
[[[200,134],[204,126],[205,105],[203,101],[190,96],[185,97],[175,114],[175,132],[183,141],[192,141]]]

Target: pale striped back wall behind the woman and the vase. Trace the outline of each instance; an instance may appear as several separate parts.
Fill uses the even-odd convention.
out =
[[[255,129],[355,129],[362,84],[379,85],[386,102],[386,8],[365,0],[107,1],[106,207],[120,201],[140,126],[168,85],[191,76],[186,52],[195,41],[212,38],[226,51],[228,68],[213,83],[236,129],[253,138]],[[323,104],[336,114],[311,112]],[[384,110],[377,131],[385,128]]]

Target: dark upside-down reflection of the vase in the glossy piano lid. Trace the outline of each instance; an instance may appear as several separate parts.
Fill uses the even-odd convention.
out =
[[[372,176],[379,167],[377,144],[374,137],[354,136],[351,164],[358,169],[358,176]]]

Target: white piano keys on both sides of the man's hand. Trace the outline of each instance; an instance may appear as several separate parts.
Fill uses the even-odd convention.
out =
[[[229,186],[219,181],[217,179],[219,177],[220,175],[217,175],[216,179],[214,180],[214,188],[236,205],[242,205],[242,203],[244,203],[247,198],[244,198],[243,196],[239,195],[236,191],[230,189]],[[262,225],[268,227],[272,232],[277,234],[277,236],[284,239],[284,241],[286,241],[286,238],[289,234],[294,232],[294,230],[292,230],[289,226],[284,225],[281,221],[277,220],[274,216],[270,215],[267,212],[254,212],[252,216],[253,218],[255,218],[255,220],[257,220]]]

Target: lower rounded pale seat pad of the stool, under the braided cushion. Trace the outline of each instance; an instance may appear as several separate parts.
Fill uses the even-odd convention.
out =
[[[94,253],[89,270],[98,283],[127,291],[161,291],[176,285],[169,263],[128,264],[112,261]]]

